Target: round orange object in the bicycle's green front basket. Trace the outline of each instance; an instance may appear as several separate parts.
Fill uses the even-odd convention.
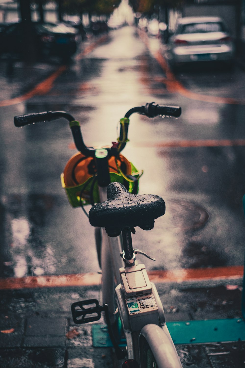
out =
[[[117,163],[116,163],[117,162]],[[118,166],[125,175],[131,174],[130,162],[119,153],[116,159],[111,156],[108,160],[109,172],[118,173]],[[118,166],[117,166],[118,164]],[[73,155],[67,162],[64,169],[64,183],[66,187],[75,187],[76,185],[85,183],[90,177],[96,173],[96,164],[93,157],[86,157],[78,152]]]

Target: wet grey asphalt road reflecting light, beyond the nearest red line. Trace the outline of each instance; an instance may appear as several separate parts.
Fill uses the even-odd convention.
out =
[[[93,42],[82,45],[82,50]],[[60,120],[18,129],[13,117],[67,110],[81,121],[86,144],[99,146],[116,140],[116,126],[127,110],[152,101],[179,105],[182,116],[149,120],[135,114],[130,119],[130,142],[123,154],[144,169],[140,193],[158,194],[166,201],[166,214],[156,220],[154,230],[137,229],[133,237],[134,247],[155,256],[156,262],[143,256],[138,261],[159,271],[243,265],[245,141],[234,143],[245,139],[243,68],[200,66],[184,68],[174,76],[162,59],[156,60],[159,48],[164,55],[165,46],[159,40],[147,39],[132,27],[111,31],[93,50],[77,54],[52,85],[49,82],[51,88],[44,86],[43,95],[34,93],[23,102],[1,107],[2,278],[97,272],[99,268],[93,228],[81,209],[71,208],[60,183],[66,162],[76,152],[68,123]],[[56,61],[28,68],[17,62],[8,76],[6,62],[0,63],[1,100],[10,101],[35,88],[58,67]],[[197,140],[205,142],[197,146]],[[241,279],[233,283],[237,282],[241,285]],[[161,290],[168,300],[165,311],[172,314],[175,305],[184,319],[205,318],[203,308],[213,318],[240,316],[241,288],[228,292],[227,280],[224,286],[210,284],[214,289],[205,285],[198,291],[199,304],[192,293],[195,284],[188,284],[188,291]],[[63,311],[68,311],[77,292],[71,291],[67,305],[59,304]],[[214,296],[207,298],[209,292],[216,301]],[[36,305],[42,312],[48,303],[60,303],[60,295],[52,297],[48,291],[36,293],[35,305],[29,294],[12,293],[12,299],[11,292],[3,293],[3,316],[11,308],[14,314],[22,308],[26,315]],[[96,288],[85,289],[86,297],[97,293]],[[10,309],[6,308],[9,298]],[[191,312],[185,298],[192,304]]]

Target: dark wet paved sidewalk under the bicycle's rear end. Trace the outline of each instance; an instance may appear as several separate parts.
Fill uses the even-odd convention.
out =
[[[157,287],[166,321],[241,320],[241,280],[198,289],[193,284]],[[91,323],[76,326],[72,321],[72,302],[88,298],[100,299],[100,287],[1,291],[0,367],[118,367],[112,348],[93,346]],[[194,336],[192,340],[176,345],[184,368],[245,366],[245,341],[195,344]]]

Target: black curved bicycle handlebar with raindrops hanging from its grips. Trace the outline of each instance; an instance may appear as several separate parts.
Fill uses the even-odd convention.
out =
[[[159,106],[155,105],[154,102],[151,102],[147,103],[145,106],[133,107],[133,109],[130,109],[125,114],[125,118],[128,119],[131,114],[136,112],[147,117],[155,117],[158,115],[163,117],[179,117],[181,115],[181,108],[178,106]],[[84,144],[79,122],[75,121],[75,118],[73,118],[72,115],[66,113],[65,111],[47,111],[42,113],[15,116],[14,125],[16,127],[23,127],[24,125],[41,123],[45,121],[56,120],[59,118],[65,118],[69,121],[73,139],[78,151],[82,152],[83,155],[87,157],[93,157],[95,155],[95,149],[93,147],[89,148]],[[107,149],[109,156],[115,155],[116,152],[121,152],[125,147],[127,142],[127,128],[128,124],[121,124],[119,141],[123,137],[123,142],[121,142],[120,146],[118,146],[118,149],[115,147],[115,145],[113,145],[112,148]]]

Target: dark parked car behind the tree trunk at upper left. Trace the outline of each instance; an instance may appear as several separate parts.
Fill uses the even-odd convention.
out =
[[[64,23],[38,23],[30,25],[35,52],[39,57],[70,57],[77,50],[80,40],[78,30]],[[15,23],[6,27],[0,34],[0,52],[13,56],[23,53],[23,24]]]

